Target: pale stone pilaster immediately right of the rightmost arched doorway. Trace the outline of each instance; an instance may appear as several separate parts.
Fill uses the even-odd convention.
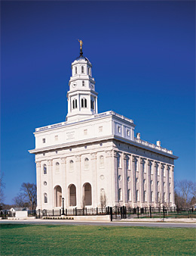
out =
[[[98,207],[100,203],[100,191],[97,190],[97,175],[96,175],[96,153],[91,153],[91,168],[92,168],[92,177],[93,177],[93,184],[92,184],[92,206],[93,208]],[[98,199],[99,198],[99,199]]]

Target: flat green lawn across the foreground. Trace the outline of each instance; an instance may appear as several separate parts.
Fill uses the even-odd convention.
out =
[[[2,224],[1,255],[195,255],[195,229]]]

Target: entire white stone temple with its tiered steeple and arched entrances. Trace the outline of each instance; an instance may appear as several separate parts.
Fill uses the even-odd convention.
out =
[[[66,121],[35,129],[37,209],[174,206],[173,152],[134,135],[133,120],[98,114],[92,64],[72,62]]]

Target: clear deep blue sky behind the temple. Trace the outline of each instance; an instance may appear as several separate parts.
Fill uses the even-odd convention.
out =
[[[195,180],[195,3],[1,2],[1,140],[5,202],[35,183],[36,127],[65,120],[71,63],[93,64],[99,112],[179,156],[175,179]]]

